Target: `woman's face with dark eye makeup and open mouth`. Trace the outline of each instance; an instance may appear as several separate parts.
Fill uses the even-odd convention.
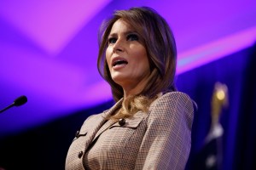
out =
[[[150,74],[146,48],[137,31],[124,20],[117,20],[108,36],[106,59],[111,77],[125,93],[137,94]]]

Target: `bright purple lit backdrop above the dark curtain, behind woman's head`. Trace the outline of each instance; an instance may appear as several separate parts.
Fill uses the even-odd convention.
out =
[[[97,29],[115,9],[149,6],[177,39],[177,73],[247,48],[256,39],[256,1],[32,1],[0,5],[0,136],[111,99],[96,70]]]

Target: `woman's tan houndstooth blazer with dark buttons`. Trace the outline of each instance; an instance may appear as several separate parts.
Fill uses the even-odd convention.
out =
[[[121,103],[85,120],[67,152],[66,170],[184,169],[194,117],[189,96],[167,93],[150,105],[148,113],[138,111],[124,124],[106,122],[104,117]]]

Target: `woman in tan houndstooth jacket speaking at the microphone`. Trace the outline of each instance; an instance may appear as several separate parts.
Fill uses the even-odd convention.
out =
[[[175,88],[176,44],[152,8],[119,10],[99,34],[98,70],[116,104],[87,118],[66,169],[184,169],[192,100]]]

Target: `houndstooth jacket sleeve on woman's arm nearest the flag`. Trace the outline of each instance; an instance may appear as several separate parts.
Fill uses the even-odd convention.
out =
[[[187,94],[172,92],[155,101],[149,109],[135,169],[184,169],[191,146],[193,114]]]

